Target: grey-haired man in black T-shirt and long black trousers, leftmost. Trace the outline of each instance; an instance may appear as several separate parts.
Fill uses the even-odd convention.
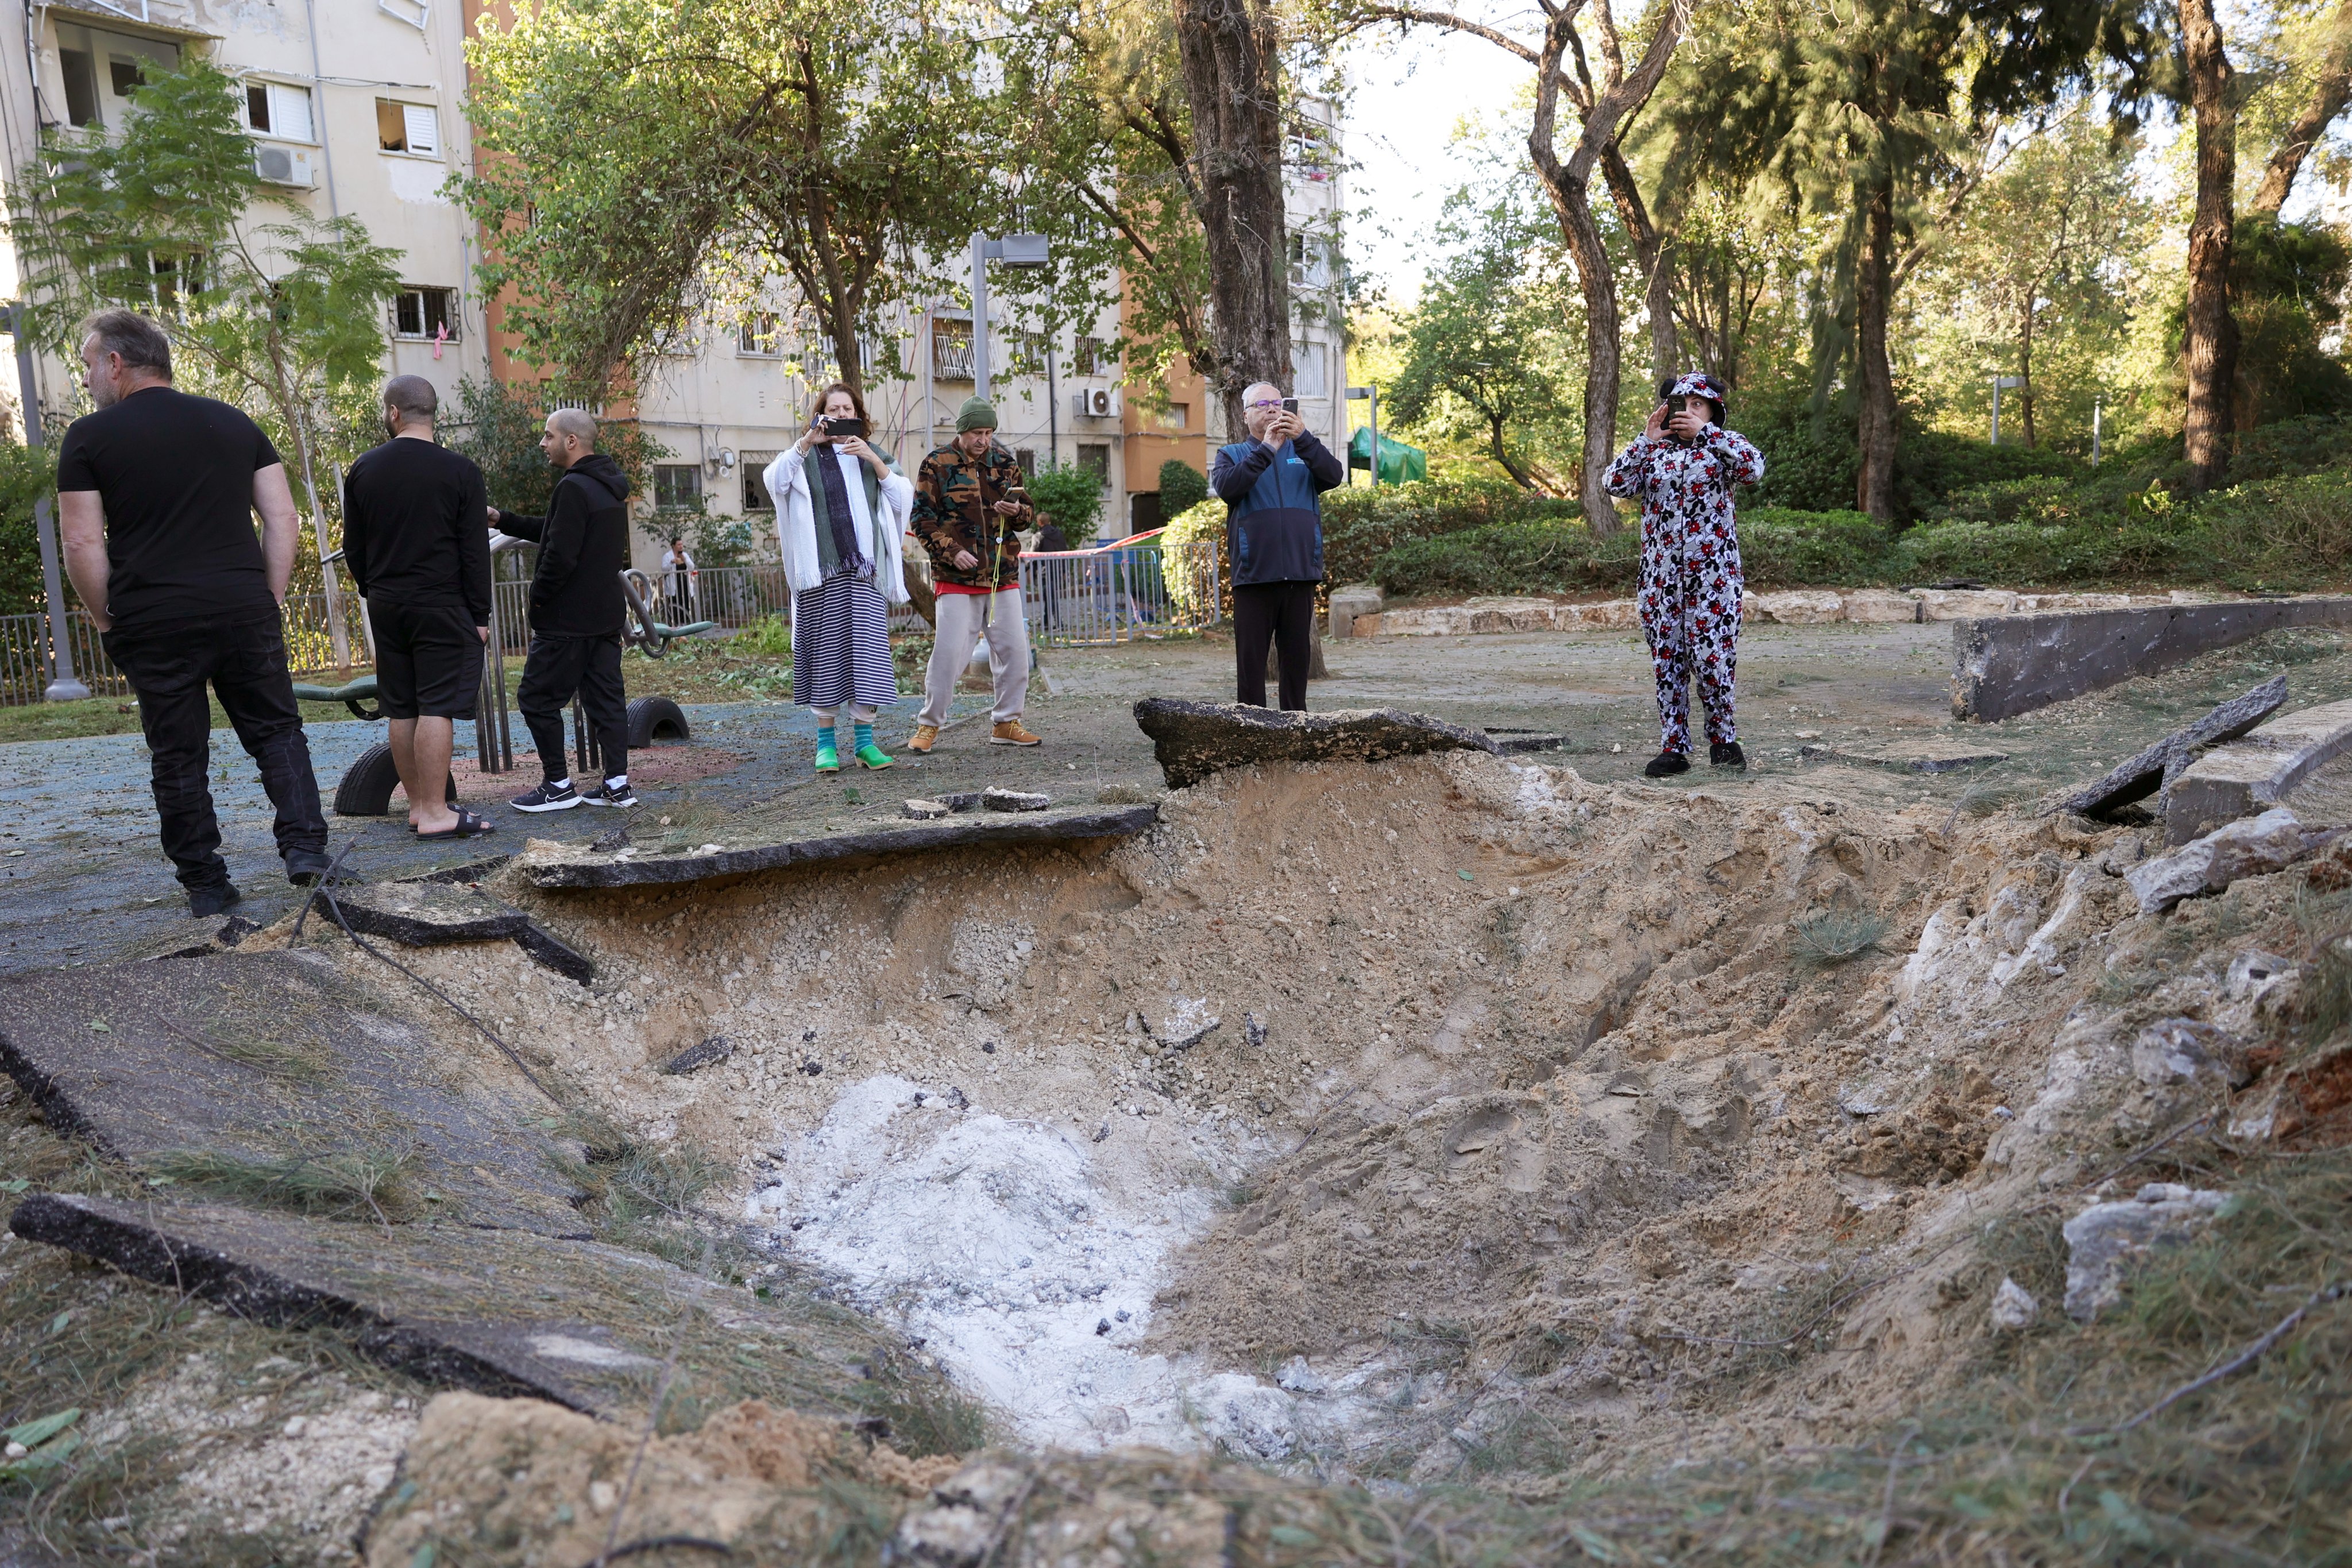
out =
[[[99,411],[73,421],[56,454],[66,569],[139,693],[162,846],[188,910],[238,903],[205,785],[207,682],[261,766],[287,882],[308,886],[329,860],[278,614],[301,534],[285,463],[245,414],[172,388],[172,341],[143,315],[82,322],[82,367]]]

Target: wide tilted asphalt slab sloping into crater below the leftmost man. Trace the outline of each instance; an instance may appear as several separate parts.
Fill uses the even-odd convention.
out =
[[[306,952],[94,964],[0,983],[0,1067],[49,1121],[136,1166],[339,1154],[407,1166],[470,1225],[579,1234],[557,1107],[503,1091]],[[506,1077],[506,1065],[485,1060]]]

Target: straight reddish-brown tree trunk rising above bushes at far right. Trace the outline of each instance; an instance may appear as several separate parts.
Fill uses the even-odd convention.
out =
[[[2213,0],[2180,0],[2180,42],[2197,115],[2197,216],[2190,221],[2190,301],[2183,418],[2192,491],[2220,484],[2230,465],[2230,395],[2237,386],[2237,322],[2230,315],[2230,197],[2237,181],[2237,103]]]

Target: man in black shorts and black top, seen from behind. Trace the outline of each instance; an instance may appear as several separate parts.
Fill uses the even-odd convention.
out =
[[[367,597],[376,698],[421,839],[470,839],[492,823],[447,802],[456,719],[470,719],[489,642],[489,496],[482,470],[433,444],[440,395],[423,376],[383,386],[393,440],[343,477],[343,559]]]

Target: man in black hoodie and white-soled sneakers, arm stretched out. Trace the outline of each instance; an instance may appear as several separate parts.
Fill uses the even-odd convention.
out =
[[[628,691],[621,686],[621,632],[628,604],[628,475],[595,449],[595,418],[581,409],[548,414],[539,449],[562,470],[546,517],[492,508],[489,520],[539,545],[532,574],[532,651],[522,661],[515,705],[539,745],[546,780],[508,804],[515,811],[635,806],[628,788]],[[604,785],[572,788],[564,759],[564,703],[579,696],[595,726]]]

